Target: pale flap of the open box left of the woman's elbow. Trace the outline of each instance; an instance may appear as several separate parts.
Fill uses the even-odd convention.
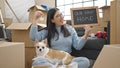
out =
[[[32,23],[12,23],[7,29],[12,30],[27,30],[31,26]]]

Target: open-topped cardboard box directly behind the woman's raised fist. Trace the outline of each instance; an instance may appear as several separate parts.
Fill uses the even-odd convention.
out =
[[[30,7],[28,9],[28,12],[29,12],[29,22],[33,22],[34,13],[36,11],[42,11],[44,13],[44,16],[43,16],[44,20],[43,21],[38,20],[38,23],[46,24],[47,11],[44,8],[42,8],[40,5],[33,5],[32,7]]]

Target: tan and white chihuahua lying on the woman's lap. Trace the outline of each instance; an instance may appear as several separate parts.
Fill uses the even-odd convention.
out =
[[[50,63],[57,66],[59,64],[68,65],[74,58],[67,52],[48,48],[44,40],[42,42],[35,41],[35,47],[37,56],[33,58],[33,60],[42,57],[46,58]]]

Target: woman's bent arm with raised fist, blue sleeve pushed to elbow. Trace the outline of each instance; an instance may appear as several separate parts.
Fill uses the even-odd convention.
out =
[[[41,11],[36,11],[34,14],[34,18],[32,21],[32,26],[30,28],[30,39],[35,41],[38,39],[39,41],[45,39],[47,37],[47,30],[38,31],[37,20],[43,13]]]

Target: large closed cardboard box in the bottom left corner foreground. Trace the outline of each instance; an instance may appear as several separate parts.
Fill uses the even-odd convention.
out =
[[[24,43],[0,42],[0,68],[25,68]]]

